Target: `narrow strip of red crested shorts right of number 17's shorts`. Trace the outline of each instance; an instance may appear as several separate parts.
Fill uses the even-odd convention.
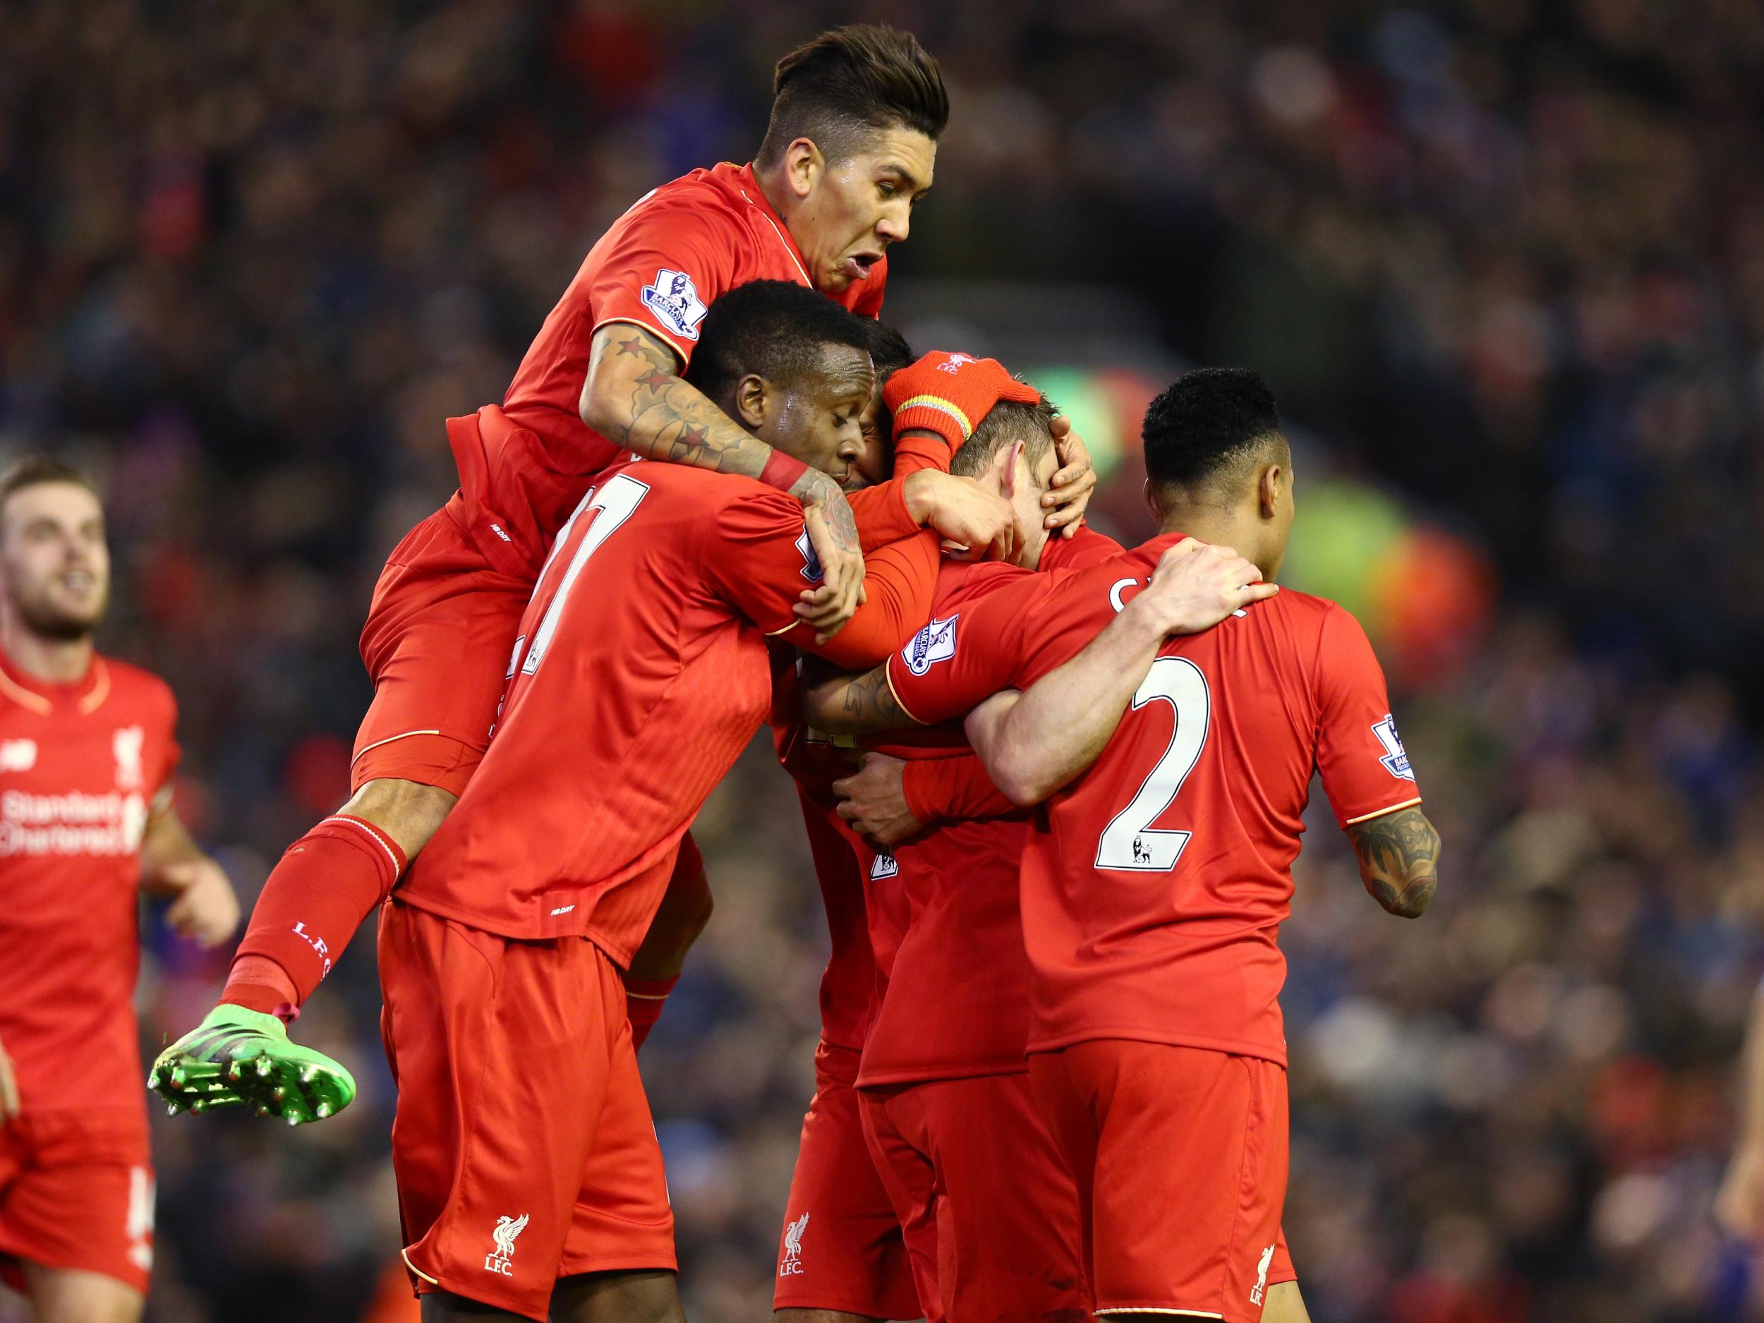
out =
[[[773,1309],[919,1318],[900,1219],[864,1145],[856,1048],[815,1050],[815,1099],[790,1178]]]

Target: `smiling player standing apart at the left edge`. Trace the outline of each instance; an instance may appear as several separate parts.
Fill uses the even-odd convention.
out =
[[[138,893],[203,946],[238,924],[171,806],[171,690],[93,651],[108,596],[92,485],[0,476],[0,1277],[42,1323],[138,1319],[153,1263]]]

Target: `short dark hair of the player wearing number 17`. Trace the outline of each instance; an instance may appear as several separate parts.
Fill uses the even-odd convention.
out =
[[[750,372],[794,386],[820,370],[822,346],[843,344],[868,355],[866,323],[808,286],[748,280],[704,314],[686,381],[713,400]]]

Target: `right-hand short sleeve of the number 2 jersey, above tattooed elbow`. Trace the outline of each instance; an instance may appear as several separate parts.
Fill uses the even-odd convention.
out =
[[[1385,672],[1349,612],[1330,605],[1316,662],[1318,771],[1342,827],[1418,804],[1415,769],[1390,716]]]

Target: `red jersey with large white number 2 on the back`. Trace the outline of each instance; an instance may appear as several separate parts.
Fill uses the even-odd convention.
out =
[[[1076,656],[1182,538],[1005,584],[889,658],[940,721]],[[1311,773],[1342,824],[1418,803],[1358,621],[1282,591],[1159,651],[1095,764],[1037,810],[1023,852],[1032,1051],[1173,1043],[1286,1062],[1275,944]]]

